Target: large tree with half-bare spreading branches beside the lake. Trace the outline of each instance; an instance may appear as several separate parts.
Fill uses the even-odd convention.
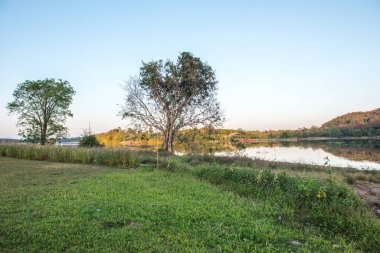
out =
[[[213,69],[188,52],[176,62],[143,62],[140,75],[124,86],[122,116],[139,127],[160,131],[163,148],[173,151],[179,129],[223,120],[216,84]]]

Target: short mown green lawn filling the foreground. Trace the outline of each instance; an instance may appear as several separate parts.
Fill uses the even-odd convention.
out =
[[[364,227],[335,231],[302,219],[286,192],[248,187],[244,169],[216,174],[205,166],[118,169],[0,157],[0,251],[379,252],[380,227],[369,211],[346,217],[364,219],[352,223]]]

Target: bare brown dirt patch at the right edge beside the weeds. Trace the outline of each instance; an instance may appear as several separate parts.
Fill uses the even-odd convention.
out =
[[[380,184],[356,181],[355,192],[371,208],[371,211],[380,220]]]

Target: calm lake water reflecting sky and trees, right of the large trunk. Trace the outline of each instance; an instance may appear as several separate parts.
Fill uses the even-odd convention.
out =
[[[179,148],[177,154],[244,155],[277,162],[380,170],[380,140],[325,140],[254,143],[246,147],[201,145]]]

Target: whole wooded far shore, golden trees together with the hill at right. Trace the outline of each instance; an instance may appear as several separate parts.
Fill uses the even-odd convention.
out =
[[[240,147],[252,140],[294,139],[294,138],[342,138],[342,137],[378,137],[380,136],[380,109],[363,113],[349,113],[333,119],[322,127],[302,128],[298,130],[244,131],[242,129],[216,129],[211,125],[197,129],[184,129],[176,134],[176,148],[184,150],[186,146],[200,143],[213,143],[217,147],[233,145]],[[156,145],[162,143],[161,134],[133,129],[113,129],[97,134],[96,138],[105,146],[120,145]],[[218,144],[216,144],[218,143]],[[194,146],[194,145],[193,145]],[[202,149],[202,148],[201,148]],[[203,149],[205,151],[207,148]],[[215,148],[218,150],[218,148]]]

